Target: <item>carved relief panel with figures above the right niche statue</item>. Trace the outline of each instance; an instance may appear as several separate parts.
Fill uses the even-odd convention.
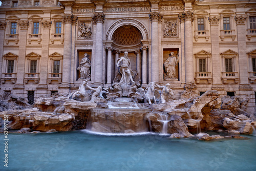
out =
[[[163,36],[164,37],[173,37],[177,36],[177,20],[166,20],[164,22],[164,30]]]

